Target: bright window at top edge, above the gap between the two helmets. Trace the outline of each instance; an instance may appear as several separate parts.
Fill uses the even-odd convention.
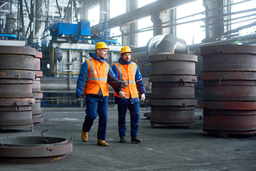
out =
[[[126,0],[110,0],[110,18],[126,13]]]

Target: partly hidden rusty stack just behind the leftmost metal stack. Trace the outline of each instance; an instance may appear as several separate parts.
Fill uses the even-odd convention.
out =
[[[40,70],[40,60],[42,59],[42,53],[36,52],[33,58],[33,71],[35,73],[35,79],[33,79],[32,92],[33,98],[35,98],[35,104],[32,105],[32,118],[33,123],[42,123],[41,101],[42,92],[40,79],[42,78],[42,71]]]

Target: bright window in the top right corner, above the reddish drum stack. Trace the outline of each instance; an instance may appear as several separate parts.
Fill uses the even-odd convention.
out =
[[[255,34],[256,31],[256,18],[255,18],[255,7],[256,7],[256,1],[247,1],[244,3],[241,0],[234,0],[234,4],[231,7],[231,12],[240,12],[245,11],[240,14],[232,15],[231,16],[231,30],[240,28],[239,35],[252,35]],[[253,11],[252,11],[253,10]]]

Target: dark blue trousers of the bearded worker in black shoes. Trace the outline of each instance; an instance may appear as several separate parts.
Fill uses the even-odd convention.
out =
[[[131,117],[131,137],[137,137],[138,120],[139,120],[139,104],[118,104],[118,132],[119,136],[125,136],[126,132],[126,111],[129,109]]]

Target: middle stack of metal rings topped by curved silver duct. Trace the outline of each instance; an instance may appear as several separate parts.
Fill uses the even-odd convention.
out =
[[[151,126],[165,124],[171,126],[194,127],[195,63],[197,56],[188,54],[185,42],[174,35],[163,40],[150,40],[156,50],[150,55],[152,82]],[[178,54],[175,54],[178,51]]]

